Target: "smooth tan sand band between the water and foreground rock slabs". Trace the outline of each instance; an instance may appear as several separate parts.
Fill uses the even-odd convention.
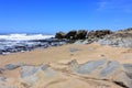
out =
[[[74,50],[75,52],[72,52],[72,50]],[[128,53],[129,51],[130,53]],[[59,62],[61,59],[77,59],[80,63],[84,63],[88,59],[108,58],[108,59],[119,61],[121,63],[123,62],[129,63],[129,61],[132,62],[132,59],[130,59],[131,54],[132,52],[130,48],[112,47],[112,46],[100,45],[96,43],[87,44],[87,45],[66,44],[62,46],[51,46],[47,48],[35,48],[30,52],[19,52],[19,53],[12,53],[8,55],[0,55],[0,61],[1,61],[0,65],[2,65],[3,63],[6,64],[6,62],[3,62],[4,59],[7,62],[9,61],[8,63],[21,62],[21,63],[29,63],[29,64],[30,63],[43,64],[43,63],[51,63],[51,62]]]

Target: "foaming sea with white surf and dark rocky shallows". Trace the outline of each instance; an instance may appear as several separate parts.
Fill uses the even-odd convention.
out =
[[[57,41],[55,35],[47,34],[1,34],[0,54],[32,51],[34,48],[46,48],[48,46],[63,45],[65,41]]]

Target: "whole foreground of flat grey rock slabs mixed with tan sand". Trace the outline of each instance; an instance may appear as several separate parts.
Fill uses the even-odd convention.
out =
[[[8,78],[1,74],[3,77],[0,77],[0,88],[81,88],[82,85],[87,88],[90,84],[95,86],[91,88],[132,88],[132,64],[116,61],[98,59],[78,64],[74,59],[56,65],[8,66],[11,69],[1,72],[18,72],[18,78]]]

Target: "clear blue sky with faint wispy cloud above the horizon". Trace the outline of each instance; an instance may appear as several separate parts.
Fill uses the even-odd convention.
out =
[[[131,26],[132,0],[0,0],[0,33]]]

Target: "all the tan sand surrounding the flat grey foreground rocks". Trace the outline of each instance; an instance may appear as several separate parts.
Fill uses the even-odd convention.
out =
[[[72,52],[72,50],[74,50]],[[89,44],[89,45],[77,45],[67,44],[57,47],[37,48],[31,52],[14,53],[9,55],[0,56],[0,67],[7,64],[24,63],[28,65],[42,65],[50,64],[54,68],[63,68],[58,64],[67,64],[72,59],[77,59],[78,63],[86,63],[88,61],[95,61],[100,58],[107,58],[112,61],[119,61],[122,64],[132,64],[132,50],[123,47],[111,47],[107,45]],[[9,70],[4,73],[6,77],[10,78],[10,82],[14,85],[18,82],[19,70]],[[88,78],[76,77],[74,75],[61,74],[55,78],[44,78],[36,84],[34,88],[121,88],[113,82],[94,80]],[[43,84],[44,82],[44,84]]]

